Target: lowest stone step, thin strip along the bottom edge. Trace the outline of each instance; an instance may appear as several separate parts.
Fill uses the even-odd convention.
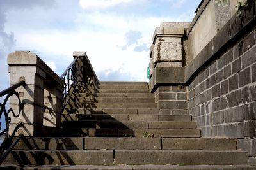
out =
[[[51,166],[51,165],[41,165],[41,166],[19,166],[19,165],[0,165],[0,168],[9,168],[9,169],[87,169],[87,170],[107,170],[107,169],[122,169],[122,170],[160,170],[160,169],[168,169],[168,170],[255,170],[256,166],[248,166],[248,165],[234,165],[234,166],[209,166],[209,165],[196,165],[196,166],[188,166],[188,165],[117,165],[117,164],[109,164],[104,166],[97,165],[63,165],[63,166]]]

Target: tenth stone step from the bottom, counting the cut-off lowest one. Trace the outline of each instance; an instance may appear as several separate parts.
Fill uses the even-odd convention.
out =
[[[154,94],[150,93],[75,93],[73,97],[138,97],[153,98]]]

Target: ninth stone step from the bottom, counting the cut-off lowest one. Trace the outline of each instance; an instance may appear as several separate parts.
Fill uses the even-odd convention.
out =
[[[153,97],[76,97],[72,101],[77,103],[154,103],[155,99]]]

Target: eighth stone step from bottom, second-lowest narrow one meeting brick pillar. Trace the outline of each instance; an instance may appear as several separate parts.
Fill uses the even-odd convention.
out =
[[[66,108],[156,108],[156,103],[73,103]]]

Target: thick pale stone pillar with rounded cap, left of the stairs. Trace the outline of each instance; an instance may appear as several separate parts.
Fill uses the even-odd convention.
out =
[[[49,131],[44,130],[44,125],[54,127],[60,125],[61,94],[63,82],[35,53],[29,51],[17,51],[8,55],[8,65],[10,73],[10,85],[25,80],[26,85],[16,89],[20,94],[22,111],[19,117],[11,116],[10,133],[19,122],[24,126],[16,133],[25,136],[43,136]],[[44,106],[51,110],[45,110]],[[19,101],[17,97],[10,97],[10,108],[14,113],[19,111]],[[49,123],[51,122],[51,123]]]

